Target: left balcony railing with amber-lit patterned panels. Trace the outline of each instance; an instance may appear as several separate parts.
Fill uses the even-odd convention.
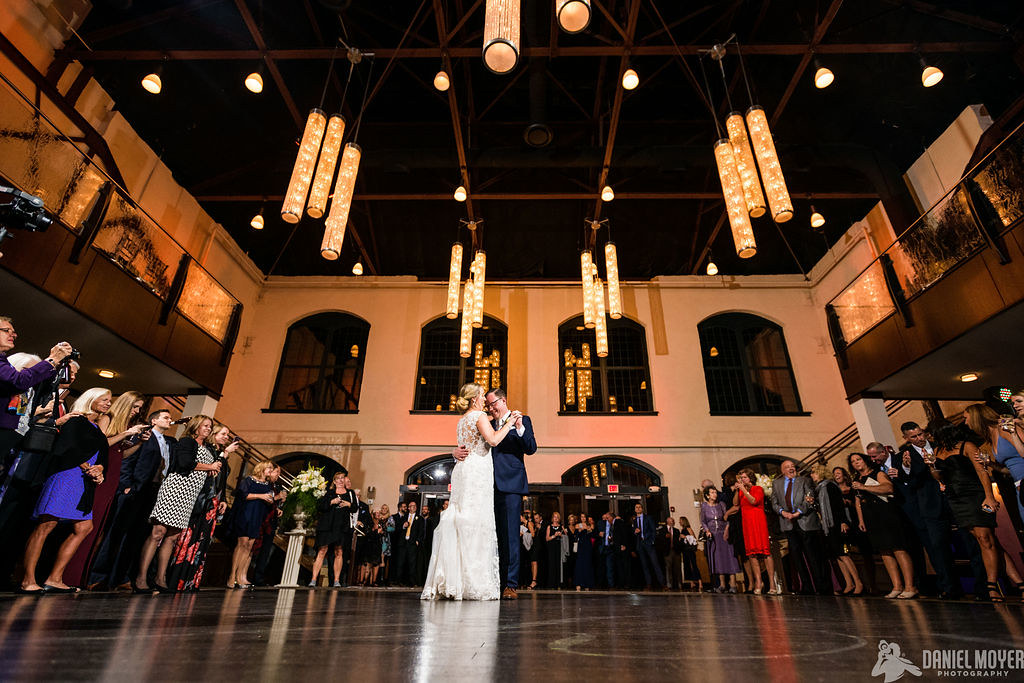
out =
[[[25,93],[0,87],[0,184],[43,200],[67,229],[222,346],[239,300]],[[72,258],[77,258],[74,254]],[[77,261],[76,261],[77,262]]]

